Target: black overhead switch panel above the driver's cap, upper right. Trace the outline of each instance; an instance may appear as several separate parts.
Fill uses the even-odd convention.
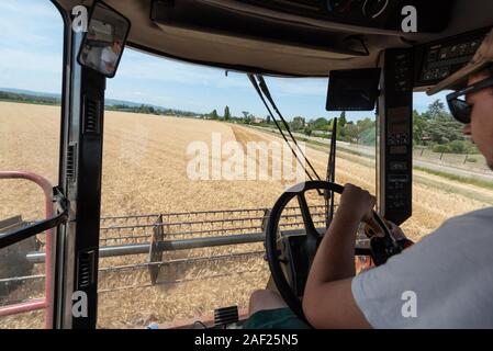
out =
[[[415,87],[434,86],[466,66],[488,31],[475,31],[417,47]]]

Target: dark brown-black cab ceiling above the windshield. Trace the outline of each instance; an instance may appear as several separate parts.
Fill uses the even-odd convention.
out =
[[[67,13],[70,13],[75,5],[90,7],[93,2],[52,1]],[[266,0],[265,3],[279,1]],[[267,7],[255,1],[105,0],[104,2],[131,21],[127,42],[130,47],[161,57],[227,70],[327,77],[333,69],[376,67],[380,53],[385,48],[416,46],[493,26],[493,1],[436,1],[428,3],[435,3],[430,11],[437,9],[442,11],[440,19],[444,29],[435,33],[404,33],[396,29],[376,27],[355,21],[343,23],[344,21],[306,14],[306,11],[299,13],[283,11],[282,7]],[[328,2],[340,3],[330,0]],[[346,2],[360,5],[365,1]],[[426,7],[419,9],[422,13],[418,12],[418,16],[427,11]]]

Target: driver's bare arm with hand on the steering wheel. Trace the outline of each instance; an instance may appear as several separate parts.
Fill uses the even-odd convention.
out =
[[[345,185],[304,292],[303,312],[315,328],[371,328],[352,297],[351,281],[356,275],[356,233],[361,220],[371,219],[374,204],[367,191]]]

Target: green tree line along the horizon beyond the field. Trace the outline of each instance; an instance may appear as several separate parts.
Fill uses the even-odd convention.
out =
[[[37,97],[14,92],[0,91],[0,100],[16,101],[23,103],[59,104],[59,98]],[[259,126],[273,126],[270,116],[256,118],[248,111],[242,111],[242,116],[233,116],[229,107],[225,106],[222,115],[217,110],[211,113],[195,113],[176,109],[155,107],[146,104],[107,105],[107,110],[134,112],[156,115],[175,115],[183,117],[199,117],[206,120],[225,121],[240,124],[256,124]],[[428,109],[418,113],[413,111],[413,141],[414,146],[429,148],[435,152],[444,154],[478,154],[477,147],[469,137],[462,134],[463,125],[450,115],[445,105],[439,100],[433,102]],[[329,138],[334,131],[334,118],[312,118],[306,121],[303,116],[295,116],[288,123],[291,131],[303,133],[307,136],[320,136]],[[282,123],[280,127],[285,129]],[[341,112],[337,122],[337,139],[348,143],[374,145],[376,144],[376,121],[374,118],[362,118],[357,122],[347,121],[346,112]]]

